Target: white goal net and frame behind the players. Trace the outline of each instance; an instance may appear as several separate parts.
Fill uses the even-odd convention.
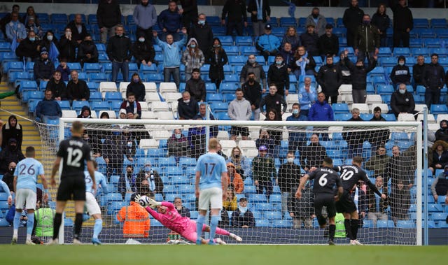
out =
[[[41,129],[48,157],[54,157],[57,143],[70,136],[73,120],[61,119],[59,126]],[[354,156],[360,156],[370,181],[388,199],[381,200],[365,182],[353,187],[351,194],[360,217],[358,240],[381,245],[421,244],[419,122],[82,121],[98,171],[109,183],[109,194],[101,189],[97,194],[103,243],[125,243],[128,238],[165,243],[173,237],[151,216],[149,231],[123,234],[123,220],[118,220],[117,213],[130,205],[134,192],[154,194],[158,201],[181,200],[190,218],[196,220],[195,165],[207,150],[209,136],[214,136],[228,162],[232,189],[228,191],[232,201],[224,203],[219,227],[243,237],[244,243],[326,243],[326,231],[318,227],[314,215],[313,183],[306,185],[300,200],[294,197],[298,183],[311,167],[321,166],[325,156],[332,158],[334,166],[351,164]],[[232,140],[232,133],[241,130],[248,131],[247,138],[239,134]],[[247,208],[239,205],[241,198],[247,199]],[[73,220],[69,208],[64,220],[66,242],[71,242]],[[83,225],[83,242],[90,242],[92,220]],[[336,243],[348,243],[344,217],[337,216],[336,229]]]

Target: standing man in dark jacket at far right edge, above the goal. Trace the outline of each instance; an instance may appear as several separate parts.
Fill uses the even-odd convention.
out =
[[[444,69],[439,64],[439,55],[431,55],[431,63],[426,65],[423,71],[423,86],[425,90],[425,104],[428,109],[431,104],[438,104],[440,99],[440,89],[445,83]]]

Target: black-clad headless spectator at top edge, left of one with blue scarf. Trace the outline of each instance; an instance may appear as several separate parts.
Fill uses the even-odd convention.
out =
[[[243,26],[247,27],[246,3],[241,0],[227,0],[223,6],[221,24],[226,24],[225,16],[228,15],[226,35],[232,36],[233,29],[238,36],[243,36]]]

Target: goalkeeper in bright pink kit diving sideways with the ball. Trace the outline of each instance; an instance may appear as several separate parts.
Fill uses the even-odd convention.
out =
[[[143,206],[148,213],[153,215],[155,220],[158,220],[165,227],[172,229],[179,233],[186,240],[196,243],[197,232],[196,232],[196,221],[190,220],[188,217],[182,217],[174,207],[173,203],[168,201],[155,201],[148,196],[137,195],[135,201]],[[210,227],[207,224],[202,226],[202,231],[209,232]],[[216,228],[216,234],[229,236],[238,242],[241,242],[241,237],[230,233],[229,231],[221,228]],[[225,244],[221,238],[214,238],[214,242],[218,244]],[[202,244],[209,243],[209,240],[201,238]]]

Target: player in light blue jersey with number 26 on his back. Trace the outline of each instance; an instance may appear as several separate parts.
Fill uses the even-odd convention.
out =
[[[34,245],[31,241],[31,232],[34,226],[34,210],[36,210],[36,182],[37,177],[41,177],[43,191],[43,201],[48,201],[48,186],[47,180],[43,173],[43,165],[34,159],[36,151],[34,147],[29,146],[25,151],[25,159],[22,159],[14,171],[14,191],[15,191],[15,215],[13,221],[13,241],[12,244],[17,243],[18,229],[20,224],[20,215],[25,206],[27,209],[27,245]]]

